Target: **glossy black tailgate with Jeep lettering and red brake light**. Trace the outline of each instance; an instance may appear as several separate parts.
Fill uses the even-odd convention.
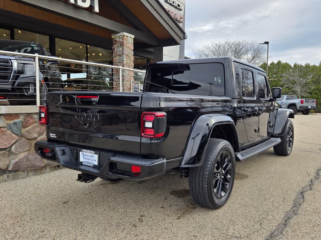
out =
[[[47,138],[140,154],[142,93],[52,92]]]

